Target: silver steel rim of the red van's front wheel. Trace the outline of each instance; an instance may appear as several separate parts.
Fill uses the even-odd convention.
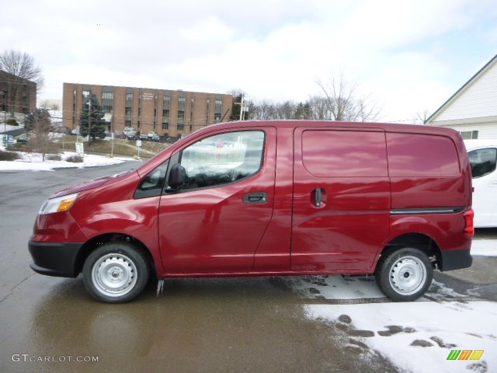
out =
[[[108,296],[122,296],[137,280],[135,264],[122,254],[107,254],[95,263],[91,278],[96,289]]]

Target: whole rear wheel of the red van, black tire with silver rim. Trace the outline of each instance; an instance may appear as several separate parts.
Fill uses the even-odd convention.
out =
[[[376,267],[378,287],[397,302],[412,301],[431,285],[433,266],[428,256],[416,248],[402,248],[382,256]]]

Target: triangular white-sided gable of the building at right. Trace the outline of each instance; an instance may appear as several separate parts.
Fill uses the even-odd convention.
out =
[[[432,122],[496,115],[497,63],[494,62],[436,115]]]

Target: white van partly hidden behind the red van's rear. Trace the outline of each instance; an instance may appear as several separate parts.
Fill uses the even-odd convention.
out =
[[[497,139],[464,140],[473,177],[475,227],[497,227]]]

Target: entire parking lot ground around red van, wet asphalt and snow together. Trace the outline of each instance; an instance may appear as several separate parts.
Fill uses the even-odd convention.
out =
[[[159,295],[151,281],[134,302],[111,305],[81,278],[34,274],[27,240],[45,198],[135,167],[0,173],[0,372],[497,370],[496,257],[436,272],[412,303],[387,300],[371,277],[333,276],[166,280]],[[476,241],[492,246],[497,229]],[[451,349],[485,352],[447,362]]]

